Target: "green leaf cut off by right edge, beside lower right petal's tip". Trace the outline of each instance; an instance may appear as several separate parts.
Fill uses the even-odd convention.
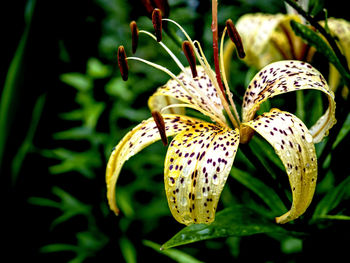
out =
[[[340,201],[343,199],[344,195],[350,187],[350,176],[348,176],[343,182],[338,186],[334,187],[332,190],[326,194],[325,197],[316,206],[312,220],[316,220],[324,217],[335,207],[338,206]]]

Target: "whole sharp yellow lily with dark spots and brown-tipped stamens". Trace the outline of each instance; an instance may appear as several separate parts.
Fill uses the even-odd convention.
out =
[[[159,19],[159,15],[154,17]],[[309,206],[315,191],[317,160],[314,143],[321,141],[335,123],[334,94],[324,77],[308,63],[296,60],[264,67],[252,79],[244,94],[241,121],[225,71],[221,71],[220,78],[209,65],[200,43],[193,41],[175,21],[163,21],[174,24],[185,35],[183,51],[190,67],[185,67],[161,41],[158,44],[178,65],[178,75],[139,57],[126,57],[124,48],[119,48],[118,62],[124,76],[128,70],[127,62],[136,60],[163,71],[170,80],[149,98],[153,117],[128,132],[111,153],[106,169],[107,198],[111,210],[119,213],[115,192],[123,164],[148,145],[158,140],[167,144],[166,138],[173,137],[164,163],[164,184],[171,213],[185,225],[213,222],[238,146],[249,142],[253,133],[257,132],[274,147],[291,186],[291,208],[277,217],[276,222],[286,223],[298,218]],[[231,26],[230,22],[226,23],[221,38],[221,67],[224,37],[226,31],[232,31]],[[137,32],[157,40],[150,32]],[[237,35],[234,41],[239,41]],[[195,64],[196,60],[199,65]],[[220,85],[220,81],[224,86]],[[327,111],[310,129],[295,115],[275,108],[255,117],[259,106],[267,99],[303,89],[321,91],[329,101]],[[186,107],[199,111],[211,122],[176,111]]]

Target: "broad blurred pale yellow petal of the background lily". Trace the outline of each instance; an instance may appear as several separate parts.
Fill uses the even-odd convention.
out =
[[[300,21],[300,18],[296,15],[263,13],[242,16],[237,21],[236,27],[246,53],[244,61],[260,69],[271,62],[293,58],[295,54],[289,42],[299,44],[299,40],[290,28],[290,20]],[[287,34],[283,30],[287,31]],[[230,50],[232,48],[233,43],[228,43],[225,52],[232,52]],[[297,52],[295,50],[294,53]]]

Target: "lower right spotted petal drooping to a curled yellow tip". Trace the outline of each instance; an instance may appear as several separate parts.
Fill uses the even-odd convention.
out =
[[[244,125],[273,146],[287,171],[293,203],[287,213],[276,218],[276,222],[283,224],[298,218],[308,208],[315,192],[317,161],[312,135],[296,116],[278,109]]]

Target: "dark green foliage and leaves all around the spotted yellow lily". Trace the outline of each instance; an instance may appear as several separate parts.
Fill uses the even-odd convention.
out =
[[[326,7],[329,15],[338,15],[336,3],[311,3],[313,14]],[[170,17],[203,43],[211,58],[210,1],[169,4]],[[183,228],[172,218],[163,183],[166,149],[160,142],[126,163],[117,186],[121,215],[113,215],[104,182],[109,154],[133,126],[150,116],[147,98],[168,77],[133,61],[127,82],[116,70],[116,46],[131,50],[129,22],[136,20],[152,31],[140,1],[63,1],[54,6],[60,7],[53,15],[57,24],[39,30],[54,11],[43,2],[28,1],[23,35],[6,65],[1,91],[0,170],[6,187],[3,200],[10,200],[6,216],[13,229],[8,237],[12,262],[18,262],[19,253],[35,262],[74,263],[295,262],[347,253],[350,170],[342,157],[350,145],[348,111],[342,113],[330,147],[330,139],[316,146],[318,156],[323,154],[316,194],[307,213],[295,222],[273,222],[289,206],[290,189],[273,148],[259,137],[237,153],[212,225]],[[220,1],[218,11],[220,27],[227,18],[236,21],[248,12],[285,12],[278,0]],[[58,19],[64,12],[67,22]],[[349,20],[349,14],[339,15]],[[35,47],[43,42],[43,32],[51,32],[45,36],[49,42]],[[171,38],[164,42],[186,61]],[[327,52],[328,59],[338,63]],[[151,38],[140,38],[137,55],[177,72]],[[230,83],[239,102],[255,70],[233,59]],[[323,112],[322,98],[314,92],[282,96],[261,110],[286,105],[291,98],[296,101],[288,103],[291,112],[307,124]]]

